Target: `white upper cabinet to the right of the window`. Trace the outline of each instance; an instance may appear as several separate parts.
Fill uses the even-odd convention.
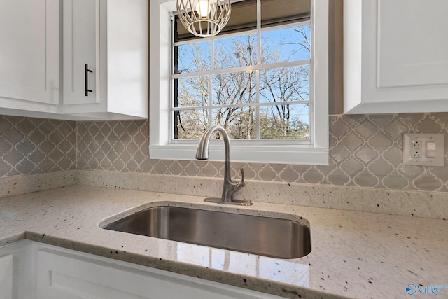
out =
[[[448,1],[344,0],[344,112],[448,111]]]

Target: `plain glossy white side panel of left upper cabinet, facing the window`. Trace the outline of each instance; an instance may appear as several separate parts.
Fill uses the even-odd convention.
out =
[[[148,2],[107,0],[104,93],[111,113],[148,118]]]

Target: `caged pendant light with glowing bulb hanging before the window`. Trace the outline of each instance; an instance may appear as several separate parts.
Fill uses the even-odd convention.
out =
[[[177,0],[179,20],[195,36],[215,36],[230,19],[230,0]]]

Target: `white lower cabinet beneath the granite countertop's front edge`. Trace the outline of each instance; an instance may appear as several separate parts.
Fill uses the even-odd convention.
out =
[[[13,245],[16,244],[22,248],[18,258],[17,253],[11,253],[15,249],[12,246],[0,248],[0,288],[6,290],[0,292],[0,299],[280,298],[38,242],[22,240]],[[23,249],[27,250],[26,255],[22,254]],[[12,278],[11,254],[12,263],[27,264],[20,275],[13,273]],[[3,272],[6,279],[1,278]],[[25,286],[29,291],[20,291],[15,286]]]

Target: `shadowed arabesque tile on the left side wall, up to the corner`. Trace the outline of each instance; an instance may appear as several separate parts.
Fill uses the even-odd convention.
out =
[[[76,123],[0,116],[0,177],[76,169]]]

